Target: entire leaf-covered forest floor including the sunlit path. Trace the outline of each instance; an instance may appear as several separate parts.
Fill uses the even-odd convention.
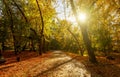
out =
[[[36,52],[20,53],[20,62],[12,52],[4,53],[6,63],[0,65],[0,77],[120,77],[120,54],[115,60],[97,57],[98,64],[88,57],[54,51],[38,56]]]

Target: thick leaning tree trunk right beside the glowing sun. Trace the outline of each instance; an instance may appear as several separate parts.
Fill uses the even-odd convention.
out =
[[[74,6],[74,3],[73,3],[73,0],[70,0],[70,4],[71,4],[71,7],[72,7],[72,11],[73,11],[73,14],[76,18],[76,21],[78,23],[78,25],[80,25],[80,22],[78,20],[78,17],[77,17],[77,11],[76,11],[76,8]],[[87,30],[84,26],[81,26],[80,25],[80,29],[81,29],[81,32],[82,32],[82,36],[83,36],[83,41],[85,43],[85,46],[87,48],[87,51],[88,51],[88,55],[89,55],[89,60],[92,62],[92,63],[97,63],[97,60],[96,60],[96,57],[95,57],[95,54],[94,54],[94,51],[91,47],[91,41],[90,39],[88,38],[88,33],[87,33]]]

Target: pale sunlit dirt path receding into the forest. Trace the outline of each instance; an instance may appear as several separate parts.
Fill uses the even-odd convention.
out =
[[[47,69],[43,69],[34,77],[91,77],[82,63],[77,62],[61,51],[54,51],[53,55],[43,64],[47,64]],[[39,70],[40,66],[38,65],[36,69]],[[36,69],[34,68],[34,70]]]

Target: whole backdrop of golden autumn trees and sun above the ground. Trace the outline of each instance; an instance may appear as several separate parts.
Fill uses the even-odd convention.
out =
[[[119,0],[0,0],[0,54],[120,52]],[[93,60],[94,59],[94,60]]]

